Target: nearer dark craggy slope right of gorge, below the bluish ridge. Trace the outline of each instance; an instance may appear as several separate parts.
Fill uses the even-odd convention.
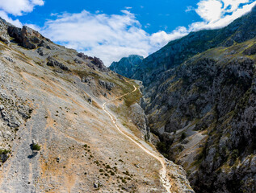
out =
[[[255,55],[241,54],[254,43],[196,55],[148,101],[163,153],[187,169],[195,191],[254,191]]]

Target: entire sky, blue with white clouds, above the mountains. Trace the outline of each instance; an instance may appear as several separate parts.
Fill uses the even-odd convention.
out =
[[[191,31],[225,27],[256,0],[0,0],[0,16],[108,66],[147,56]]]

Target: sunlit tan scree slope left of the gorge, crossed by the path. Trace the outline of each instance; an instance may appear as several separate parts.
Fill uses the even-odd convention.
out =
[[[0,192],[166,192],[133,80],[0,19]],[[124,97],[124,93],[132,92]],[[116,100],[115,100],[116,99]],[[162,160],[165,160],[162,158]],[[172,192],[194,192],[165,161]]]

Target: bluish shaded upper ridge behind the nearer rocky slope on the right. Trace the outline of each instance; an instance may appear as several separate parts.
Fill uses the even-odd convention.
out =
[[[256,35],[255,19],[256,7],[249,14],[237,18],[220,30],[191,32],[182,39],[171,41],[145,58],[132,78],[143,81],[146,88],[153,88],[157,86],[157,82],[162,82],[168,77],[165,76],[167,70],[176,68],[193,55],[212,47],[229,47],[253,39]]]

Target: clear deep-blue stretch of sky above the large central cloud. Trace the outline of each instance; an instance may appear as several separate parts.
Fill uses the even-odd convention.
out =
[[[30,14],[19,17],[23,23],[34,23],[43,26],[45,19],[51,18],[52,13],[79,13],[82,10],[95,13],[97,10],[104,14],[120,14],[120,10],[130,10],[136,14],[142,28],[154,33],[157,31],[173,31],[178,26],[188,26],[199,21],[195,11],[186,12],[187,6],[196,7],[196,1],[191,0],[46,0],[44,6],[37,6]]]

